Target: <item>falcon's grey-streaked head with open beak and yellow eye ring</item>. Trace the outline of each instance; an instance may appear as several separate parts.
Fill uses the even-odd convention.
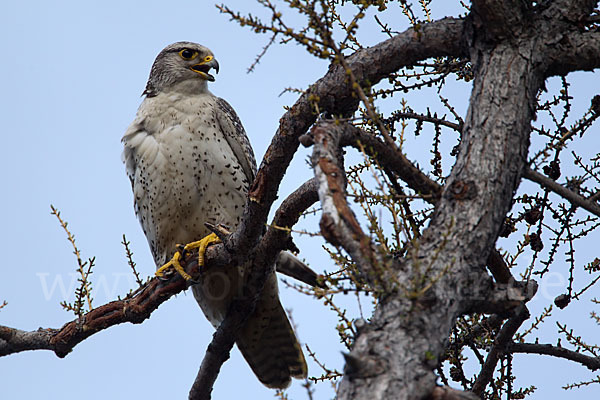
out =
[[[144,94],[156,96],[182,82],[191,88],[206,90],[206,82],[214,82],[209,72],[219,72],[219,63],[212,51],[192,42],[177,42],[165,47],[154,60]]]

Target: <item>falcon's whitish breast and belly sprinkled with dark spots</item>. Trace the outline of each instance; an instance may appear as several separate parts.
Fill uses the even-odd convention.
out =
[[[146,98],[123,136],[136,214],[158,267],[176,244],[209,234],[205,222],[235,227],[243,212],[250,179],[224,135],[227,115],[219,114],[217,99],[210,92]],[[237,269],[205,274],[214,293],[202,293],[202,284],[193,287],[213,324],[221,322],[239,289],[240,274]]]

